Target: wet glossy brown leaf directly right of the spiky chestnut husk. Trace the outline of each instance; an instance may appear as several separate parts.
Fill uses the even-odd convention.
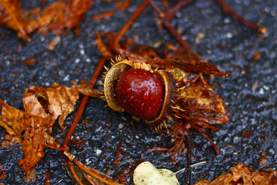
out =
[[[179,116],[188,121],[197,118],[202,121],[202,127],[209,127],[204,123],[213,125],[228,122],[223,100],[215,94],[201,73],[199,75],[188,73],[183,78],[183,82],[184,84],[180,84],[180,86],[186,88],[179,91],[181,96],[175,101],[175,104],[180,107]]]

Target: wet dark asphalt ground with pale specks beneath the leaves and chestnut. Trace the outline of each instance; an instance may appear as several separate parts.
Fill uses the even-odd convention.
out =
[[[222,130],[208,134],[220,148],[221,154],[216,156],[211,144],[199,133],[194,132],[192,139],[191,163],[207,161],[207,164],[192,168],[192,183],[197,179],[215,177],[226,173],[238,162],[247,164],[251,168],[274,168],[277,166],[277,3],[275,0],[226,1],[244,18],[266,26],[268,34],[258,39],[253,30],[249,30],[225,15],[222,8],[213,0],[196,0],[177,13],[172,25],[181,30],[181,35],[188,41],[193,51],[202,55],[206,60],[215,64],[222,71],[230,73],[228,78],[213,78],[209,80],[216,93],[225,101],[229,110],[229,123],[222,125]],[[22,1],[23,8],[39,6],[40,1]],[[136,10],[141,1],[133,1],[124,12],[117,12],[111,19],[96,23],[91,18],[100,12],[114,10],[113,3],[94,1],[89,12],[84,15],[84,22],[80,23],[79,37],[74,30],[60,37],[60,43],[53,51],[47,50],[47,44],[55,37],[46,37],[39,33],[30,34],[31,42],[27,43],[17,38],[15,31],[0,28],[0,98],[17,109],[23,109],[22,94],[32,86],[50,87],[54,82],[70,86],[71,80],[90,80],[101,55],[96,48],[95,32],[118,32],[127,19]],[[157,2],[159,3],[159,2]],[[176,44],[175,40],[165,31],[159,32],[154,21],[157,14],[150,6],[146,8],[139,19],[129,29],[127,35],[139,44],[152,45],[158,41]],[[204,33],[204,38],[195,43],[197,34]],[[17,49],[21,44],[21,51]],[[260,58],[253,60],[256,51]],[[35,64],[26,66],[27,58],[33,58]],[[100,85],[97,85],[100,89]],[[4,91],[8,91],[5,94]],[[71,125],[75,112],[70,114],[64,125]],[[130,124],[128,114],[114,112],[105,108],[105,102],[90,98],[84,110],[81,121],[88,119],[85,125],[80,121],[74,137],[84,140],[84,148],[70,148],[87,166],[92,166],[103,172],[111,169],[111,177],[116,177],[116,150],[121,141],[125,141],[125,152],[120,169],[134,166],[141,152],[154,146],[170,147],[170,137],[165,137],[150,129],[143,123]],[[109,125],[110,123],[110,125]],[[243,132],[253,134],[246,139]],[[56,124],[53,135],[60,133]],[[0,128],[0,142],[3,141],[3,128]],[[267,163],[259,166],[258,162],[263,152],[267,155]],[[50,173],[51,184],[73,184],[67,175],[60,152],[46,148],[45,157],[35,166],[37,180],[33,184],[44,183],[44,173]],[[24,170],[17,166],[23,157],[19,145],[6,150],[0,147],[0,163],[6,170],[6,177],[0,182],[4,184],[26,184]],[[131,159],[134,162],[131,164]],[[176,171],[186,166],[186,155],[178,155],[179,163],[172,164],[169,156],[150,152],[145,159],[158,168],[169,168]],[[180,184],[185,184],[186,173],[177,176]],[[132,182],[129,182],[132,184]]]

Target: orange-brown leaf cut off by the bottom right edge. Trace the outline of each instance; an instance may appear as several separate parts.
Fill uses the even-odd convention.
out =
[[[238,164],[230,169],[229,173],[224,173],[217,177],[213,182],[201,180],[195,185],[274,185],[277,184],[277,172],[272,169],[267,169],[265,172],[252,172],[245,164]]]

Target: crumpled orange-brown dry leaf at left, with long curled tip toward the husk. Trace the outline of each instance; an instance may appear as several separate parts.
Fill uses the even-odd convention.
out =
[[[60,127],[66,116],[74,109],[79,94],[98,97],[98,91],[91,85],[82,84],[65,87],[54,84],[44,89],[43,87],[30,87],[23,94],[24,111],[10,107],[0,99],[1,116],[0,126],[4,127],[8,134],[6,141],[1,145],[5,148],[19,143],[24,152],[24,158],[19,160],[19,167],[24,169],[27,182],[35,180],[35,164],[44,157],[44,147],[59,148],[50,135],[53,124],[58,118]],[[23,134],[23,138],[21,137]]]

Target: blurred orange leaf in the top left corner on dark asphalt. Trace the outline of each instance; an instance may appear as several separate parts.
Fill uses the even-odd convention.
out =
[[[0,1],[0,26],[6,26],[17,31],[18,37],[30,41],[28,33],[37,30],[46,34],[66,34],[66,29],[73,29],[79,25],[82,15],[91,8],[92,0],[56,1],[44,10],[34,8],[21,10],[17,0]]]

